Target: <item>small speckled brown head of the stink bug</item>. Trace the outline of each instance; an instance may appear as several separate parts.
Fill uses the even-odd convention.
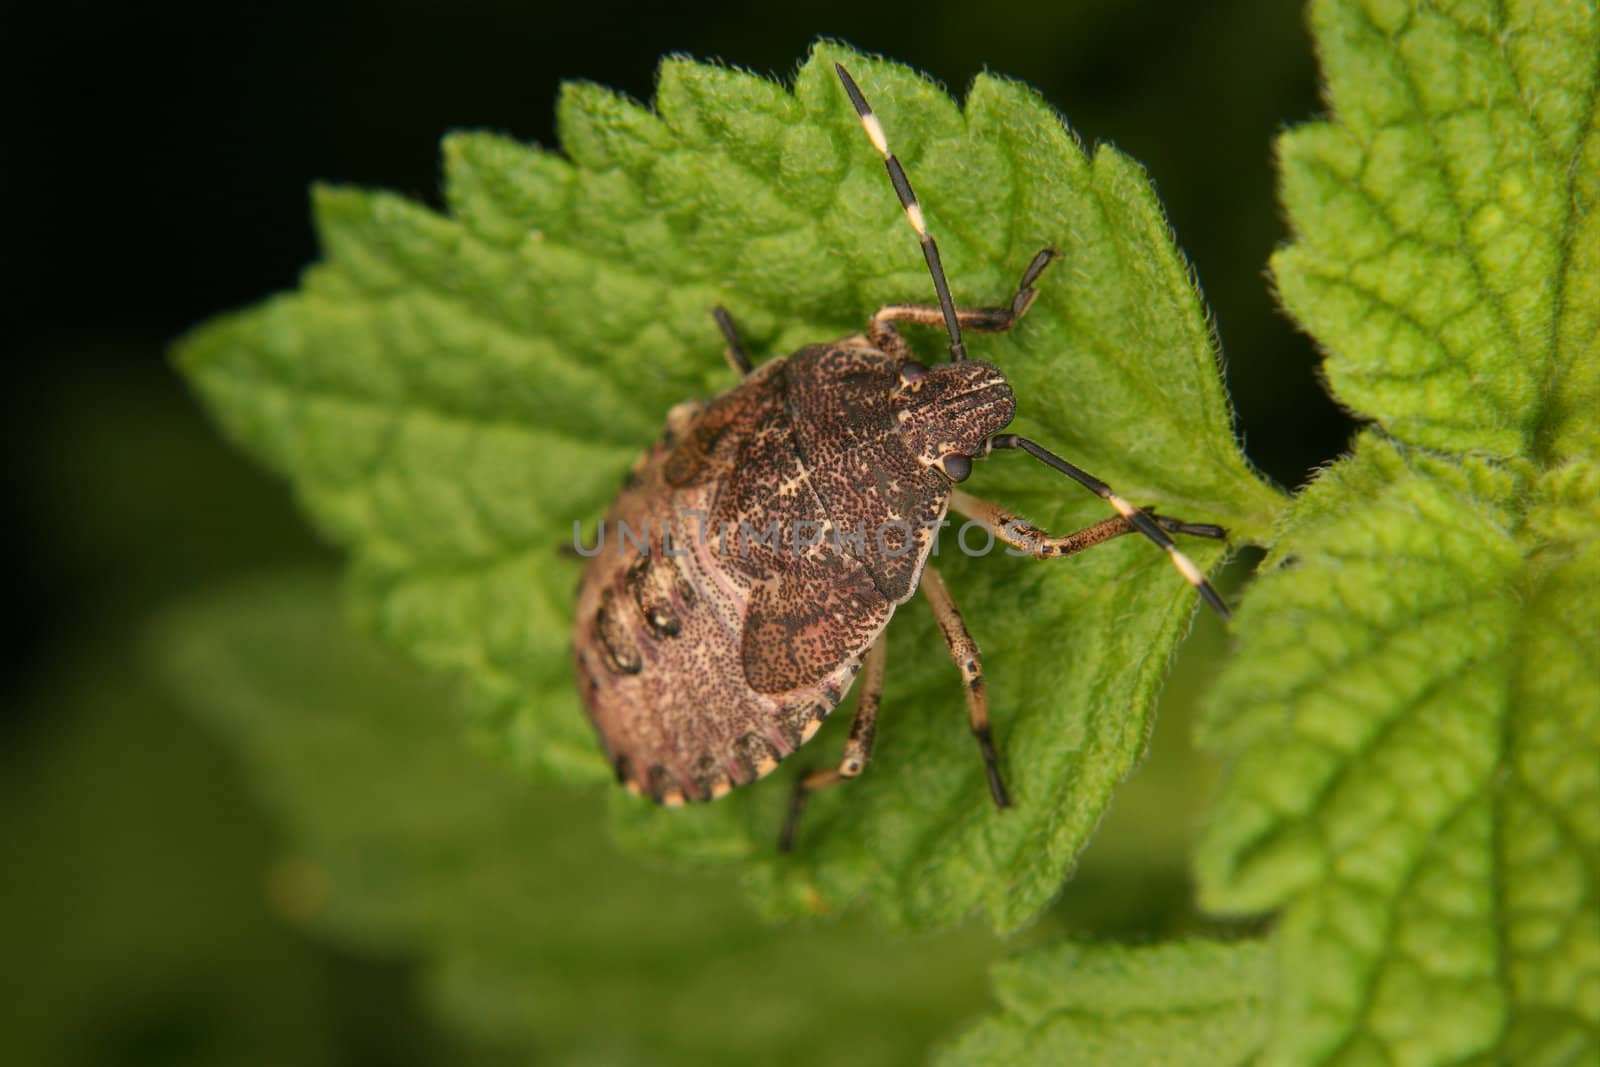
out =
[[[901,440],[926,466],[950,482],[965,482],[973,456],[1016,414],[1011,384],[981,360],[901,366],[896,398]]]

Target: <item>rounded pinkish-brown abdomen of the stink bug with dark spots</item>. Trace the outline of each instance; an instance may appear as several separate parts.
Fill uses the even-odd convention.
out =
[[[757,427],[734,427],[739,432],[730,430],[726,442],[706,432],[696,438],[702,416],[675,411],[678,429],[669,424],[667,437],[635,466],[584,571],[573,632],[584,707],[619,781],[666,803],[720,797],[766,774],[810,739],[893,611],[878,598],[861,614],[859,635],[842,645],[835,627],[826,630],[832,643],[818,645],[819,627],[794,624],[792,611],[779,616],[762,608],[792,557],[787,549],[746,550],[738,522],[720,528],[715,498],[728,480],[702,478],[693,469],[728,462],[755,440]],[[683,462],[683,442],[702,454]],[[675,467],[674,456],[680,458]],[[670,485],[669,474],[685,485]],[[774,493],[762,504],[741,515],[746,528],[765,531],[776,522],[782,530],[800,514],[816,518],[814,498],[798,493]],[[624,526],[630,536],[619,537]],[[867,592],[875,595],[870,582]],[[755,629],[765,635],[754,645],[768,649],[755,654],[760,688],[750,683],[752,641],[746,640],[752,601]],[[778,603],[805,608],[792,597]],[[813,609],[803,614],[813,624],[818,619]],[[771,637],[787,640],[774,645]],[[790,654],[795,648],[798,656]]]

